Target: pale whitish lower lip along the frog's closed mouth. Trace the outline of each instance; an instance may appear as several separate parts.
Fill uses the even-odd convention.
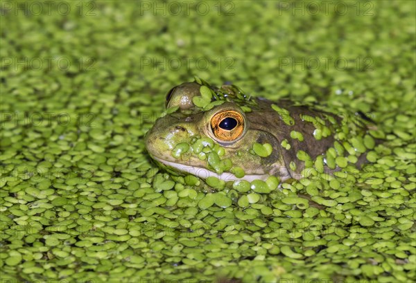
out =
[[[207,179],[208,177],[216,177],[223,181],[238,181],[238,180],[245,180],[248,182],[252,182],[254,180],[262,180],[266,181],[269,174],[252,174],[252,175],[245,175],[243,178],[237,178],[234,174],[230,172],[223,172],[221,174],[218,174],[216,172],[213,172],[211,170],[208,170],[207,168],[203,167],[197,167],[190,164],[181,164],[181,163],[175,163],[172,161],[166,161],[162,158],[159,158],[157,156],[153,156],[153,158],[156,161],[159,161],[160,163],[163,163],[164,165],[170,166],[175,168],[176,170],[179,170],[181,172],[187,172],[188,174],[192,174],[195,176],[198,176],[201,179]]]

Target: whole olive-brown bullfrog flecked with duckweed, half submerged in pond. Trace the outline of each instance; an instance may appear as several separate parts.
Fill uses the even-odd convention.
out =
[[[168,170],[202,179],[283,182],[361,164],[375,145],[363,122],[197,78],[168,92],[146,148]]]

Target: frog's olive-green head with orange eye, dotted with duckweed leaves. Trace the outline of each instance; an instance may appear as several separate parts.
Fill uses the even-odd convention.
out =
[[[168,91],[165,113],[146,134],[146,149],[168,170],[224,181],[266,180],[286,170],[279,141],[264,127],[267,113],[236,86],[180,84]],[[259,156],[254,143],[273,150]]]

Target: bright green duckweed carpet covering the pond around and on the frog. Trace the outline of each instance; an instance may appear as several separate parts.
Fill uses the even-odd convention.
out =
[[[317,15],[275,1],[206,2],[206,15],[198,3],[184,15],[169,2],[166,14],[151,1],[69,1],[67,13],[2,3],[1,281],[414,282],[415,6],[368,3],[346,1],[344,13],[329,3]],[[307,63],[315,58],[318,69]],[[268,158],[304,144],[290,165],[311,161],[303,179],[278,188],[276,176],[176,176],[150,163],[144,135],[189,75],[374,122],[343,116],[333,132],[330,116],[272,104],[281,127],[301,119],[313,138],[338,140],[317,158],[296,131],[281,149],[253,146],[251,158]],[[226,101],[197,81],[198,107]],[[250,95],[236,93],[256,115]],[[349,138],[351,120],[372,130]],[[167,154],[248,172],[211,138],[177,143]]]

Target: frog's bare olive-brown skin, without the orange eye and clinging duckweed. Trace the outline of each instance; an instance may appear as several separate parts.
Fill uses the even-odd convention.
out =
[[[205,85],[209,86],[207,83]],[[349,136],[353,135],[362,138],[366,132],[363,127],[357,126],[356,123],[350,123],[352,128],[348,128],[350,125],[345,125],[342,122],[342,118],[335,114],[316,111],[304,106],[295,106],[289,100],[280,100],[275,104],[281,109],[286,109],[294,119],[294,125],[288,125],[288,123],[284,122],[280,113],[272,109],[273,102],[270,100],[250,98],[241,101],[235,99],[235,95],[239,91],[229,86],[222,86],[220,89],[209,86],[214,91],[227,92],[228,97],[223,98],[227,100],[223,104],[204,111],[201,107],[196,107],[193,104],[193,98],[201,95],[200,87],[201,84],[197,82],[187,82],[176,86],[168,93],[166,107],[179,107],[179,109],[157,119],[153,128],[146,135],[146,149],[150,156],[159,165],[167,167],[174,172],[193,174],[202,179],[208,176],[215,176],[224,181],[236,181],[239,179],[250,182],[258,179],[265,181],[269,176],[277,176],[280,181],[291,178],[301,179],[305,162],[297,157],[297,153],[300,150],[309,154],[311,163],[318,156],[324,156],[324,161],[326,161],[325,153],[327,149],[334,146],[336,140],[342,144],[343,140],[346,140]],[[241,107],[250,107],[251,111],[244,112]],[[218,140],[211,130],[211,118],[215,113],[223,109],[239,111],[245,118],[243,134],[233,142]],[[316,129],[315,125],[313,122],[302,120],[301,115],[321,118],[324,121],[324,125],[327,126],[327,130],[330,131],[329,136],[322,137],[320,140],[315,138],[313,134]],[[332,117],[332,122],[329,120],[329,116]],[[303,140],[300,141],[291,137],[291,132],[293,131],[302,133]],[[340,136],[337,133],[343,133],[345,137],[337,138],[337,136]],[[225,154],[220,156],[220,159],[228,158],[232,162],[232,167],[241,167],[244,170],[245,176],[237,178],[232,174],[232,169],[224,172],[222,170],[216,171],[209,165],[208,158],[201,160],[198,154],[193,152],[192,148],[192,144],[198,138],[211,138],[214,140],[214,144],[223,147]],[[290,149],[286,149],[281,145],[284,140],[287,140],[291,145]],[[186,153],[173,157],[172,152],[175,146],[180,143],[187,143],[190,145],[190,148]],[[272,146],[271,154],[266,157],[255,154],[252,150],[254,143],[270,144]],[[343,156],[347,155],[343,154]],[[355,165],[362,163],[363,156],[365,154],[356,154]],[[294,163],[296,166],[291,167],[291,163]],[[324,163],[325,173],[331,173],[336,170],[340,170],[338,165],[329,168],[327,163]]]

